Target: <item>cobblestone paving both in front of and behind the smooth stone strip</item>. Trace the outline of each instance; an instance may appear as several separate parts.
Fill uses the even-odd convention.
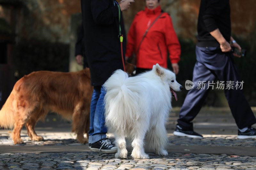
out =
[[[30,141],[28,136],[22,134],[26,146],[43,145],[81,145],[76,142],[73,133],[44,133],[39,134],[45,141]],[[13,145],[8,134],[1,134],[0,145]],[[58,138],[58,139],[56,139]],[[252,147],[256,151],[255,139],[240,140],[235,136],[220,137],[212,135],[203,139],[191,139],[186,137],[175,137],[169,134],[169,145],[201,145],[201,146],[244,146]],[[13,146],[15,147],[15,146]],[[20,146],[22,147],[22,146]],[[158,156],[148,153],[150,159],[115,159],[114,154],[104,154],[99,152],[59,152],[59,153],[2,153],[0,154],[0,169],[88,169],[88,170],[112,170],[112,169],[245,169],[256,170],[256,156],[239,156],[228,154],[200,154],[200,153],[172,153],[168,156]]]

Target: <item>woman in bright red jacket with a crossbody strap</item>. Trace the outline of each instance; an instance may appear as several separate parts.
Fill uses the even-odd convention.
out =
[[[136,74],[152,69],[156,63],[167,68],[167,51],[173,72],[179,72],[180,43],[172,19],[161,10],[159,1],[146,0],[145,10],[136,14],[129,29],[125,56],[136,55]]]

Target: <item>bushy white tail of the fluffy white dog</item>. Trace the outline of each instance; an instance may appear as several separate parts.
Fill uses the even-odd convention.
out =
[[[132,124],[132,120],[138,119],[139,108],[136,103],[136,98],[139,98],[139,93],[136,93],[136,83],[127,81],[129,76],[123,70],[116,70],[114,74],[104,84],[107,93],[105,96],[106,104],[106,125],[108,128],[124,130]],[[130,90],[133,89],[133,92]],[[135,91],[135,92],[134,92]],[[116,114],[118,113],[118,114]]]

